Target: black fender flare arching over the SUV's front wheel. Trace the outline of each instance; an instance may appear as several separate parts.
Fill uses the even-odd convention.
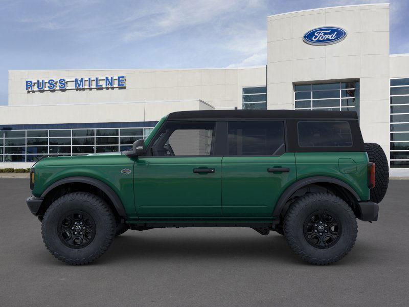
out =
[[[118,197],[117,193],[115,191],[113,191],[112,188],[110,186],[108,186],[106,183],[103,183],[102,181],[100,181],[98,179],[95,179],[95,178],[91,178],[91,177],[76,176],[76,177],[67,177],[67,178],[60,179],[60,180],[54,182],[53,184],[51,184],[41,194],[41,198],[44,199],[44,197],[46,197],[46,195],[51,190],[53,190],[56,187],[59,187],[59,186],[61,186],[63,184],[67,184],[67,183],[85,183],[85,184],[89,184],[89,185],[92,185],[92,186],[100,189],[101,191],[103,191],[108,196],[109,200],[112,202],[112,204],[115,207],[115,209],[117,210],[118,214],[120,216],[123,216],[123,217],[126,216],[124,205],[122,204],[122,202],[121,202],[120,198]]]

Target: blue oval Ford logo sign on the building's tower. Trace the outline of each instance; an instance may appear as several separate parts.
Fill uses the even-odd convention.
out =
[[[331,45],[347,37],[347,31],[338,27],[315,28],[304,34],[303,40],[309,45]]]

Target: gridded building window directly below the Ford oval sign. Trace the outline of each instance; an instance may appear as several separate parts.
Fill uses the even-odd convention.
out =
[[[355,111],[359,117],[359,82],[294,85],[296,109]]]

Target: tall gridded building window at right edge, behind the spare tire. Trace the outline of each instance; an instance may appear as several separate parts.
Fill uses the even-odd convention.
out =
[[[409,168],[409,78],[391,79],[391,168]]]

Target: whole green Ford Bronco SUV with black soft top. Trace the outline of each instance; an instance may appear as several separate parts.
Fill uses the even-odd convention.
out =
[[[352,249],[356,218],[377,221],[388,181],[355,112],[185,111],[129,151],[41,159],[27,204],[67,264],[94,261],[128,229],[236,226],[274,230],[325,265]]]

